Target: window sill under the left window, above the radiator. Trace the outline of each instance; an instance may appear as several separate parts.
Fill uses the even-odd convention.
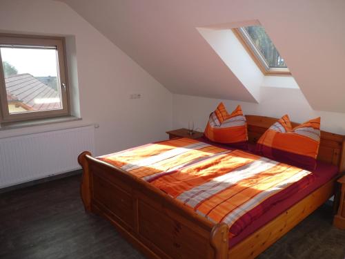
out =
[[[55,118],[50,118],[50,119],[33,119],[33,120],[25,121],[25,122],[4,122],[4,123],[1,123],[0,131],[12,130],[15,128],[26,128],[30,126],[55,124],[55,123],[61,123],[61,122],[75,122],[79,120],[81,120],[81,118],[79,117],[63,116],[63,117],[55,117]]]

